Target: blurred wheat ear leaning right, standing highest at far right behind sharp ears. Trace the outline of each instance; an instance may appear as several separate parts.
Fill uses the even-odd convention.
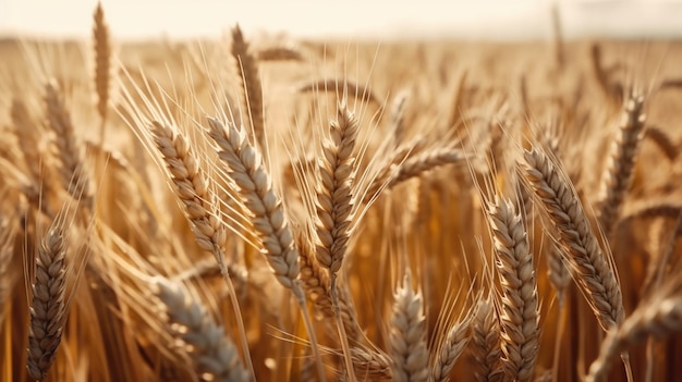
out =
[[[609,234],[618,219],[623,199],[632,184],[635,159],[646,116],[643,112],[644,97],[636,90],[625,100],[618,137],[613,141],[599,197],[599,224]]]

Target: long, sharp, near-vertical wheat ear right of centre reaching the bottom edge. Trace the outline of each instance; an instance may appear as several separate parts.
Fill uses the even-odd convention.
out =
[[[496,196],[487,202],[486,215],[502,287],[502,366],[508,379],[529,381],[539,347],[539,311],[528,237],[523,219],[510,200]]]

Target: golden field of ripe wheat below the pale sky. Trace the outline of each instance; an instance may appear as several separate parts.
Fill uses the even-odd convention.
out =
[[[680,81],[93,36],[3,48],[0,380],[682,378]]]

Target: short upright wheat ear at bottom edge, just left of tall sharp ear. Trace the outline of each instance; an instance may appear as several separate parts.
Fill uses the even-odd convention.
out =
[[[501,381],[504,372],[500,365],[502,358],[500,321],[491,294],[482,298],[476,306],[470,348],[476,366],[474,371],[476,381]]]

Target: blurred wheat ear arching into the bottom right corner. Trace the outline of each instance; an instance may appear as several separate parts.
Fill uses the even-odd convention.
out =
[[[637,308],[618,328],[613,328],[601,343],[599,356],[589,367],[586,382],[601,381],[619,354],[648,336],[666,337],[682,332],[682,298],[655,298]]]

